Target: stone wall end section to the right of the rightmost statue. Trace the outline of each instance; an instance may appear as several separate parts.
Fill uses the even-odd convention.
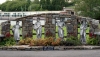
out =
[[[96,37],[96,35],[100,35],[100,23],[99,20],[91,19],[89,21],[89,36]]]

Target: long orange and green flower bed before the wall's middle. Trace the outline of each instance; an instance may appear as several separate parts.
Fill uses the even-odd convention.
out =
[[[70,37],[62,41],[61,38],[54,39],[53,37],[32,39],[25,38],[19,41],[19,45],[30,45],[30,46],[76,46],[81,45],[77,38]]]

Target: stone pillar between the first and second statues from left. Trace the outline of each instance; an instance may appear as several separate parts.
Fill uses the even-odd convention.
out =
[[[33,20],[25,19],[22,21],[22,37],[33,37]]]

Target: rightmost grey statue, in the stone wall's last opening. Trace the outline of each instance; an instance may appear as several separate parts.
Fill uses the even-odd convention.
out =
[[[87,22],[83,20],[80,26],[80,36],[82,44],[86,44],[86,29],[87,29]]]

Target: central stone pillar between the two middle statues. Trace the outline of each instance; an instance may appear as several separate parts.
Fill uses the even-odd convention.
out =
[[[53,24],[55,21],[52,18],[52,15],[46,16],[46,22],[45,22],[45,37],[55,37],[56,36],[56,25]]]

